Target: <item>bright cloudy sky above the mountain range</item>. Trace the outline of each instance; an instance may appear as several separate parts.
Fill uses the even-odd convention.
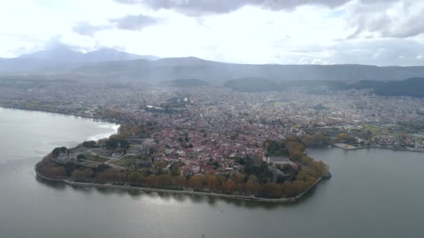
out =
[[[233,63],[424,65],[421,0],[13,0],[0,57],[67,45]]]

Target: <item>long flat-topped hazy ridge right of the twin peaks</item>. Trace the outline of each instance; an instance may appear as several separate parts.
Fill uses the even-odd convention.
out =
[[[202,79],[224,84],[230,79],[263,78],[272,81],[299,80],[400,80],[424,77],[424,67],[377,67],[372,65],[243,65],[205,61],[199,58],[161,58],[157,61],[108,62],[85,65],[77,72],[160,82],[169,79]]]

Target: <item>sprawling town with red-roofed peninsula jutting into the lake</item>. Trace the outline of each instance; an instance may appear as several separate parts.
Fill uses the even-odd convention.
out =
[[[74,181],[298,196],[328,166],[305,148],[424,152],[423,99],[370,90],[243,93],[225,86],[49,82],[3,86],[1,106],[118,122],[115,135],[56,148],[38,173]]]

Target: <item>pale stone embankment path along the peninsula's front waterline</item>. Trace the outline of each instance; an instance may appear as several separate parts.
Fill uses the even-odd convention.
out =
[[[222,194],[222,193],[206,193],[206,192],[197,192],[197,191],[185,191],[185,190],[172,190],[172,189],[153,189],[153,188],[147,188],[147,187],[132,187],[132,186],[121,186],[121,185],[112,185],[112,184],[93,184],[93,183],[84,183],[84,182],[73,182],[70,180],[63,180],[63,179],[55,179],[51,177],[46,177],[44,175],[40,175],[36,171],[37,177],[51,181],[51,182],[62,182],[71,186],[79,186],[79,187],[94,187],[94,188],[100,188],[100,189],[117,189],[117,190],[127,190],[127,191],[146,191],[146,192],[156,192],[156,193],[178,193],[178,194],[186,194],[186,195],[197,195],[197,196],[209,196],[209,197],[215,197],[215,198],[230,198],[235,200],[249,200],[249,201],[255,201],[255,202],[262,202],[262,203],[293,203],[298,200],[300,200],[308,191],[315,188],[321,180],[323,180],[322,177],[319,177],[319,179],[312,184],[311,187],[303,191],[298,196],[295,196],[293,198],[257,198],[257,197],[249,197],[249,196],[237,196],[237,195],[229,195],[229,194]]]

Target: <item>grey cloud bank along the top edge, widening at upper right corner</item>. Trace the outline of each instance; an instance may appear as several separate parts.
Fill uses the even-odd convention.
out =
[[[199,17],[231,13],[244,6],[266,10],[294,10],[299,6],[337,8],[333,15],[351,29],[347,39],[358,37],[408,38],[424,32],[424,1],[416,0],[114,0],[140,4],[153,10],[176,10]],[[340,9],[342,7],[343,9]],[[202,23],[202,22],[199,22]]]

